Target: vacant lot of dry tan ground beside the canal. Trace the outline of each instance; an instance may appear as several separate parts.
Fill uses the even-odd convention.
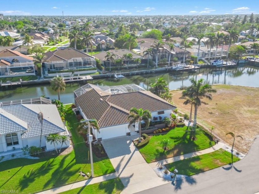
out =
[[[208,105],[199,107],[197,122],[208,129],[214,126],[213,133],[229,145],[232,145],[233,138],[226,136],[227,132],[241,135],[244,140],[236,138],[235,149],[248,152],[254,138],[259,134],[259,88],[229,85],[213,87],[217,93],[212,94],[211,101],[204,99]],[[172,91],[173,104],[179,111],[189,115],[191,106],[183,105],[184,100],[179,99],[181,92]]]

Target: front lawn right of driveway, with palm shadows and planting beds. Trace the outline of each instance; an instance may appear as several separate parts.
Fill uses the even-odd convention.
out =
[[[201,128],[198,128],[201,129]],[[144,133],[144,131],[142,131]],[[210,135],[204,130],[196,131],[196,140],[191,140],[190,129],[187,127],[176,127],[167,134],[153,135],[149,143],[140,148],[139,151],[145,158],[147,163],[179,156],[182,154],[203,150],[215,145],[214,141],[210,141]],[[168,140],[167,147],[169,150],[164,151],[161,142]]]

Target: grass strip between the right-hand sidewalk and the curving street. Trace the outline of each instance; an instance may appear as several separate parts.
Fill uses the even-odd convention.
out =
[[[232,161],[231,153],[223,149],[219,149],[215,152],[195,156],[192,158],[187,158],[184,160],[166,164],[165,166],[171,172],[174,172],[176,168],[178,170],[178,174],[191,176],[198,174],[200,172],[204,172],[207,170],[218,168],[226,164],[230,164],[232,162],[236,162],[238,160],[240,159],[236,156],[233,156]]]

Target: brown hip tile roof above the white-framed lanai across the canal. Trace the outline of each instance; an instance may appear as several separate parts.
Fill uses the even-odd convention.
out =
[[[60,61],[60,60],[69,60],[72,58],[92,58],[90,55],[78,51],[74,48],[61,48],[55,51],[48,51],[45,53],[44,60],[47,61]]]

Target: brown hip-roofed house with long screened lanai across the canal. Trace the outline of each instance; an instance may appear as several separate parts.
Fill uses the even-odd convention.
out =
[[[76,72],[76,70],[96,67],[96,61],[93,57],[74,48],[48,51],[45,53],[43,61],[45,61],[43,65],[45,75],[50,71],[71,70]]]

